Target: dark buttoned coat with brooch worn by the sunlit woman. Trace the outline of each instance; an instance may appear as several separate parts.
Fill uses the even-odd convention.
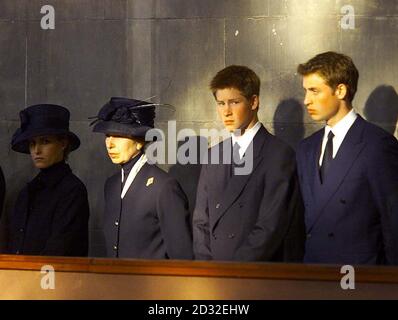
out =
[[[153,182],[148,184],[148,179]],[[192,259],[186,195],[178,182],[146,163],[123,200],[121,173],[105,183],[105,243],[108,257]]]

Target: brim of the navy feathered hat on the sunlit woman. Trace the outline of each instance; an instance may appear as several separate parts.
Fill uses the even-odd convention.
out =
[[[93,132],[119,135],[127,138],[145,138],[146,133],[151,129],[154,128],[136,124],[123,124],[115,121],[100,121],[95,124]]]

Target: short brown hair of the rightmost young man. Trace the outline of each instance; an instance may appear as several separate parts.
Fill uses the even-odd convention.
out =
[[[333,89],[336,89],[339,84],[345,84],[347,86],[346,100],[348,102],[354,100],[359,73],[349,56],[333,51],[320,53],[306,63],[299,64],[297,72],[302,76],[317,73]]]

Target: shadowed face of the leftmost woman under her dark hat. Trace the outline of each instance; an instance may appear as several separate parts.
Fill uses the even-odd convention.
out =
[[[36,168],[45,169],[64,160],[67,139],[57,136],[39,136],[29,141],[29,150]]]

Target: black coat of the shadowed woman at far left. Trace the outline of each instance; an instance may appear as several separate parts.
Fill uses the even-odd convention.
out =
[[[12,254],[87,256],[89,205],[84,184],[61,162],[20,192],[10,217]]]

